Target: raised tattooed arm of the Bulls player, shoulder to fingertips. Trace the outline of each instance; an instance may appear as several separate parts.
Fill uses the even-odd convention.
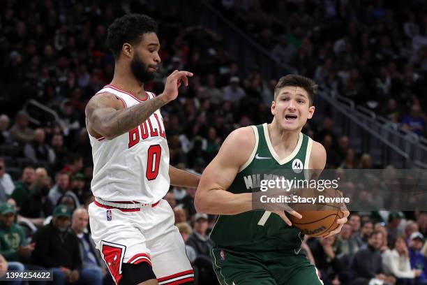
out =
[[[89,131],[108,140],[130,131],[148,119],[158,108],[177,98],[181,80],[188,85],[187,76],[193,76],[193,73],[174,71],[167,77],[162,94],[126,109],[121,107],[120,101],[113,94],[93,96],[85,110]]]

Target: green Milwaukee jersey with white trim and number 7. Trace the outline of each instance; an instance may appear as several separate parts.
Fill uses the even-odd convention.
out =
[[[232,193],[260,191],[260,181],[265,177],[271,177],[271,173],[277,170],[290,170],[288,173],[292,172],[297,179],[304,179],[303,170],[308,168],[313,140],[299,133],[297,147],[292,154],[280,159],[271,146],[267,124],[251,127],[255,133],[255,147],[228,191]],[[303,238],[303,234],[287,226],[277,214],[264,210],[220,215],[211,232],[211,239],[216,247],[247,251],[280,249],[295,251],[295,254],[298,254]]]

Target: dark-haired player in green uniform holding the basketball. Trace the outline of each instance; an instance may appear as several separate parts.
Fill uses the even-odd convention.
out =
[[[323,284],[301,251],[304,235],[292,228],[287,205],[273,212],[253,209],[253,192],[260,190],[258,171],[322,170],[326,152],[301,133],[313,117],[317,85],[300,75],[280,78],[271,103],[271,124],[248,126],[230,133],[202,174],[195,195],[197,212],[219,214],[211,239],[213,269],[220,284]],[[302,171],[301,175],[304,175]],[[255,175],[256,176],[256,175]],[[347,222],[345,211],[339,233]]]

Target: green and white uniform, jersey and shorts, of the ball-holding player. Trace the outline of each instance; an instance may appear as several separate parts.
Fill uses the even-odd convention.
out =
[[[279,159],[271,146],[267,124],[252,128],[255,147],[227,191],[260,191],[261,180],[283,170],[292,173],[290,179],[304,179],[313,140],[299,133],[294,151]],[[301,251],[304,235],[287,226],[277,214],[253,210],[221,215],[211,239],[213,269],[220,284],[322,284]]]

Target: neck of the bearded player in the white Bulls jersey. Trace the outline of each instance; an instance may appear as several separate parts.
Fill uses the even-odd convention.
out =
[[[129,70],[119,66],[119,64],[114,68],[114,77],[110,85],[129,92],[140,99],[147,96],[144,92],[144,83],[138,81]]]

